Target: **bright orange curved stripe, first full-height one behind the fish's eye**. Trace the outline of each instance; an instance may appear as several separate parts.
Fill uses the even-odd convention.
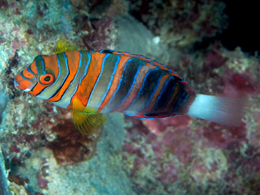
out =
[[[70,82],[74,79],[74,76],[77,74],[77,69],[79,67],[79,51],[73,51],[73,52],[66,52],[65,53],[67,57],[67,66],[69,67],[70,74],[67,76],[67,79],[65,83],[63,83],[62,88],[58,91],[58,93],[48,99],[49,102],[56,102],[60,100],[60,98],[63,96],[65,93],[65,90],[70,86]]]

